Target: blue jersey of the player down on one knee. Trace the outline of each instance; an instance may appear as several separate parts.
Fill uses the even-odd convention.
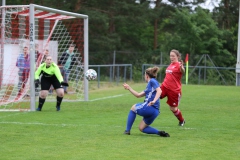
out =
[[[147,104],[154,100],[156,96],[156,89],[159,88],[159,83],[155,78],[151,78],[147,84],[145,92],[145,100],[144,102],[147,102]],[[160,108],[160,100],[158,99],[156,103],[152,105],[152,107],[159,109]]]

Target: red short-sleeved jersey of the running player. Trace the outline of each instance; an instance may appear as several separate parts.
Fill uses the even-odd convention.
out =
[[[173,62],[166,69],[162,85],[167,89],[179,92],[181,91],[181,78],[180,62]]]

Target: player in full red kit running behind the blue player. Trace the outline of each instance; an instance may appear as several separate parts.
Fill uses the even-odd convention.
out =
[[[185,120],[178,105],[182,97],[181,78],[185,69],[183,61],[181,60],[181,54],[178,50],[173,49],[170,51],[170,60],[171,64],[166,69],[166,76],[161,85],[162,94],[160,98],[163,99],[167,97],[167,104],[170,110],[179,120],[179,126],[183,126]]]

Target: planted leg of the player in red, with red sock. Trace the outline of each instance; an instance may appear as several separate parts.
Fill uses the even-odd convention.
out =
[[[180,103],[180,99],[181,99],[181,92],[179,93],[174,93],[171,92],[168,95],[168,105],[170,107],[170,110],[172,111],[172,113],[175,115],[175,117],[178,119],[179,121],[179,126],[183,126],[185,124],[185,120],[182,116],[182,112],[180,111],[180,109],[178,108],[178,105]]]

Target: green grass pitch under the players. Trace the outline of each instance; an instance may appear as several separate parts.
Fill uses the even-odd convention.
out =
[[[145,83],[132,84],[137,91]],[[152,124],[171,135],[163,138],[138,130],[123,135],[130,107],[143,99],[122,86],[90,91],[89,102],[47,102],[42,112],[0,112],[0,157],[3,160],[203,160],[240,157],[240,88],[183,85],[180,109],[184,127],[161,100]]]

